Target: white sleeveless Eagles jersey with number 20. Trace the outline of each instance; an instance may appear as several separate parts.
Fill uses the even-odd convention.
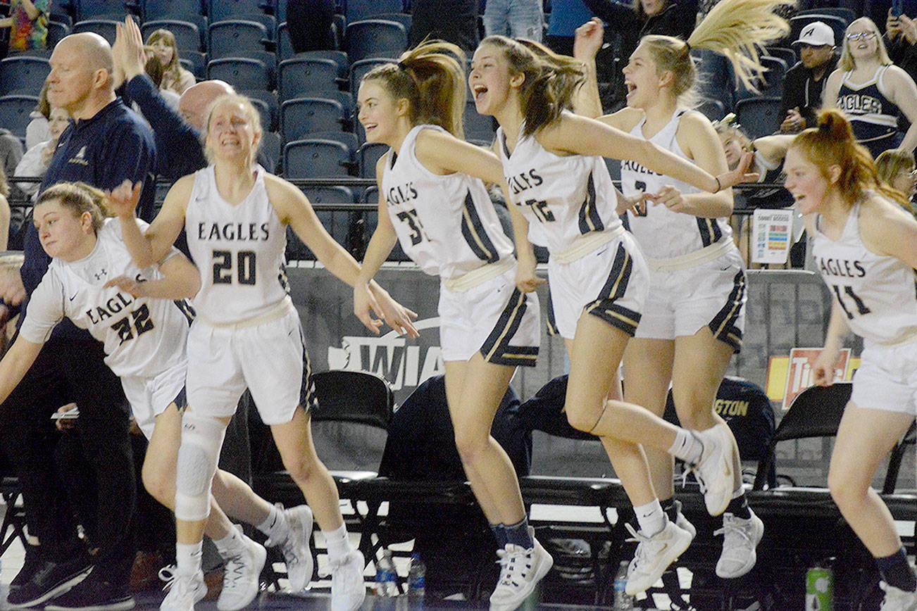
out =
[[[286,227],[256,169],[255,186],[238,205],[216,189],[214,166],[194,172],[184,228],[201,271],[194,308],[204,321],[233,324],[265,314],[287,296]]]

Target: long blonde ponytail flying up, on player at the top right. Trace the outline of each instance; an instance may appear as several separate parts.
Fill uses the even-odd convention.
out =
[[[660,74],[672,73],[671,91],[681,104],[691,105],[691,93],[697,83],[691,49],[722,53],[746,88],[757,92],[756,82],[766,70],[759,60],[758,48],[790,31],[787,21],[774,10],[793,4],[795,0],[722,0],[694,28],[687,42],[654,34],[641,38],[640,45],[646,47]]]

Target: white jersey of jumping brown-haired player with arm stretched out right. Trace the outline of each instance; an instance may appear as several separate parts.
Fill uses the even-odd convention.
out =
[[[551,253],[567,250],[580,235],[611,231],[621,226],[615,209],[612,177],[601,157],[561,157],[538,144],[534,136],[522,136],[512,154],[506,147],[503,127],[497,129],[503,175],[510,199],[519,206],[531,226],[533,244],[544,242]]]

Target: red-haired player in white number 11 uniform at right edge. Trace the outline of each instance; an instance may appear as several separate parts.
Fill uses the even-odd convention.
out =
[[[888,507],[870,486],[917,414],[917,222],[880,183],[844,115],[824,111],[818,123],[796,136],[784,163],[787,190],[814,238],[815,267],[834,294],[824,348],[812,367],[815,384],[834,381],[848,331],[864,340],[828,487],[876,559],[883,611],[912,610],[917,577]]]

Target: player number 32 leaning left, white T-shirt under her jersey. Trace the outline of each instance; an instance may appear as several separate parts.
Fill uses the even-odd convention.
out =
[[[105,345],[105,364],[120,377],[138,427],[149,440],[143,482],[166,507],[174,506],[175,472],[181,437],[188,319],[180,309],[200,286],[192,264],[172,248],[159,265],[140,268],[121,239],[121,224],[105,219],[101,191],[61,183],[44,191],[35,208],[39,237],[54,257],[29,302],[18,347],[5,359],[6,397],[32,363],[58,322],[66,317]],[[33,354],[34,352],[34,354]],[[220,471],[214,494],[238,491],[233,507],[260,525],[276,511],[235,475]],[[247,606],[258,594],[265,551],[241,534],[218,506],[207,535],[226,559],[221,611]],[[311,519],[311,518],[310,518]],[[311,521],[309,524],[311,528]],[[291,562],[308,555],[308,541],[296,529],[267,532]],[[297,535],[299,535],[297,539]],[[309,556],[311,565],[311,555]],[[311,573],[311,570],[310,570]]]

